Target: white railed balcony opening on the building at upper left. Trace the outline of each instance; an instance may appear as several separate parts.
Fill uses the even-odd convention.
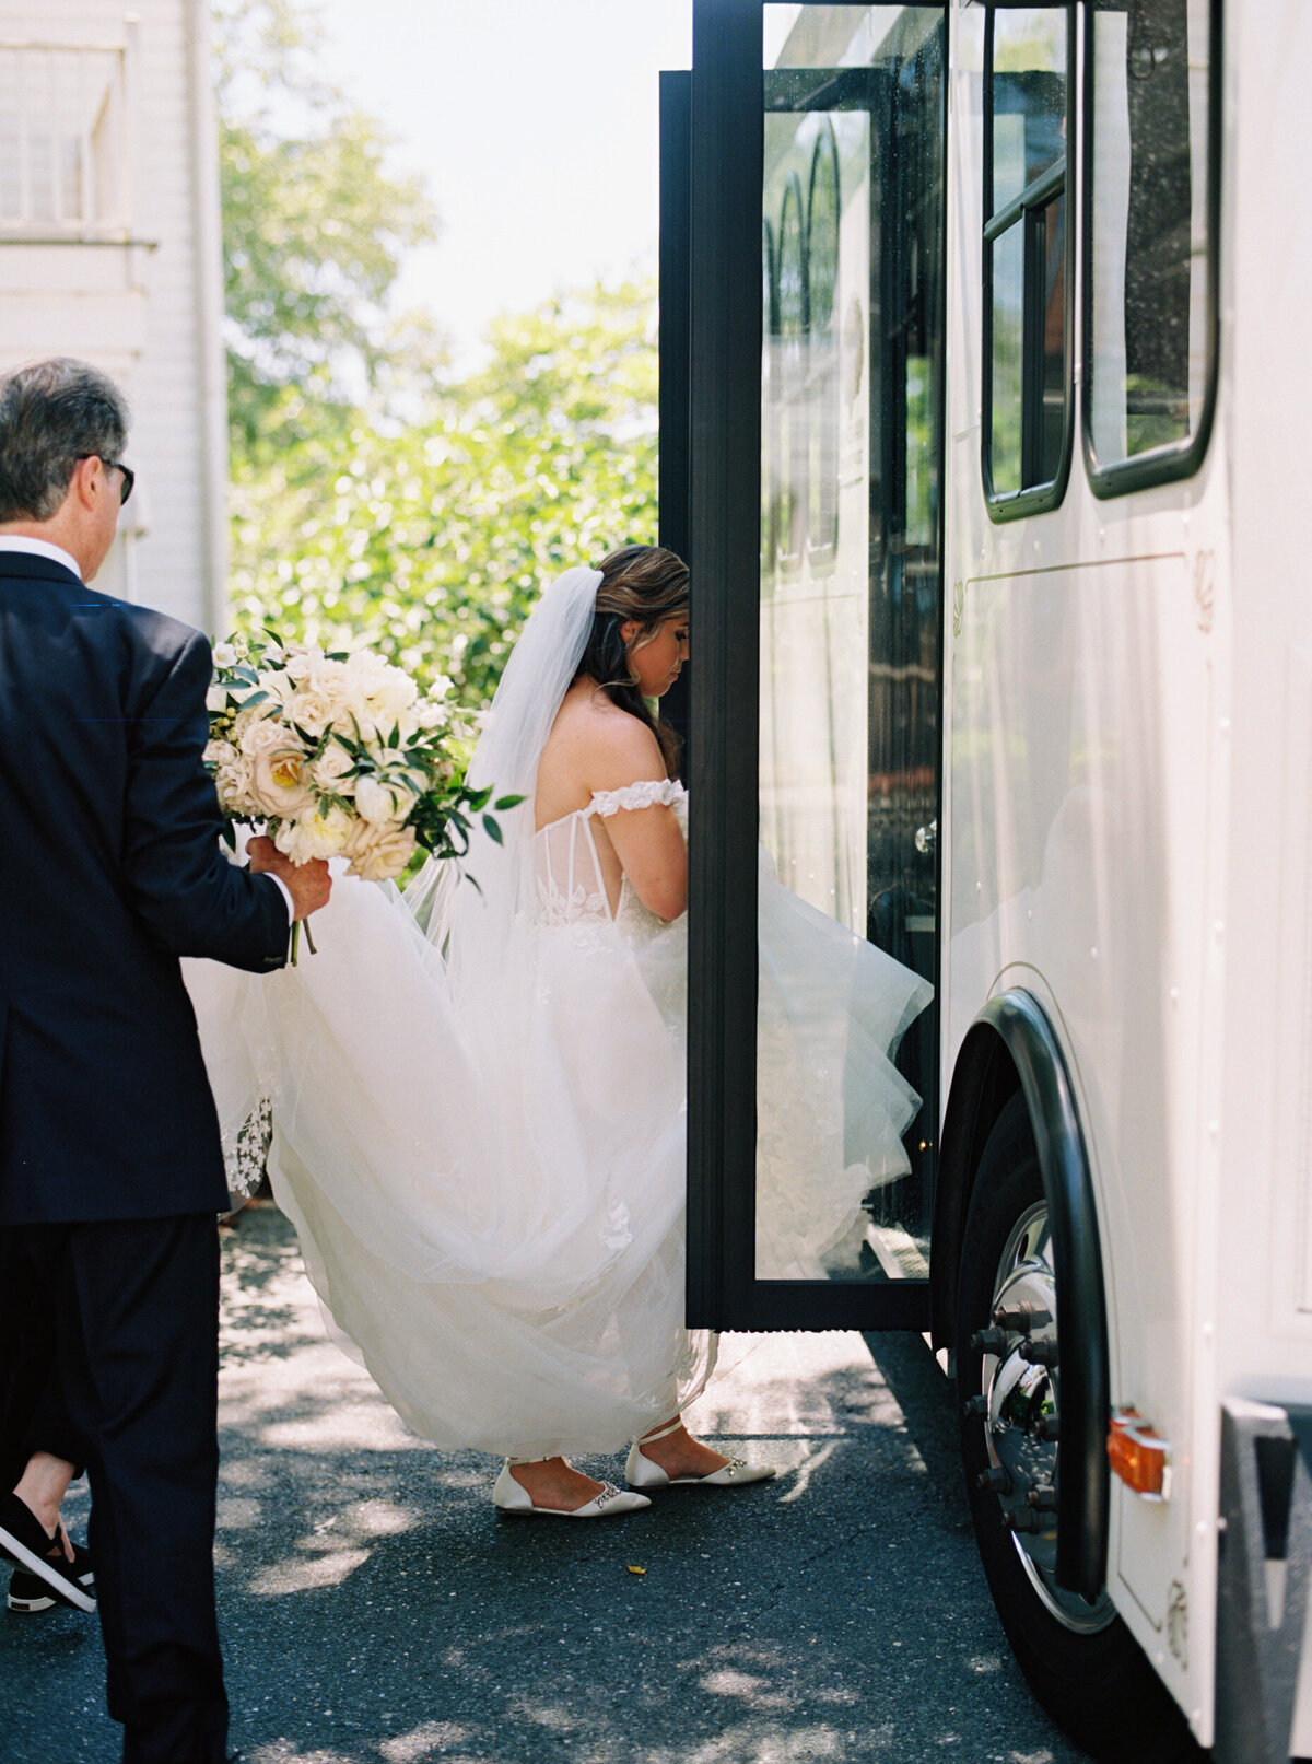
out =
[[[0,44],[0,236],[125,226],[123,51]]]

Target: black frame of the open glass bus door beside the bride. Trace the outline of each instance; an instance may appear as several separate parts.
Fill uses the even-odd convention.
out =
[[[755,1272],[762,25],[764,0],[693,0],[693,72],[661,83],[661,538],[695,584],[686,1316],[924,1330],[928,1281]]]

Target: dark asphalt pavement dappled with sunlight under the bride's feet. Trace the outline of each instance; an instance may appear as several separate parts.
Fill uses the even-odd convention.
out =
[[[779,1478],[497,1519],[323,1334],[294,1237],[224,1245],[219,1614],[247,1764],[1079,1764],[1003,1641],[919,1337],[725,1337],[691,1420]],[[622,1462],[580,1459],[619,1480]],[[69,1514],[85,1528],[86,1496]],[[0,1760],[116,1764],[93,1618],[0,1612]]]

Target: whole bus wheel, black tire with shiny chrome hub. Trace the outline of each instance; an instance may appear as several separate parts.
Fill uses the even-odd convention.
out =
[[[1056,1584],[1056,1349],[1047,1205],[1018,1094],[980,1157],[958,1279],[961,1461],[984,1573],[1030,1686],[1077,1745],[1114,1764],[1201,1757],[1106,1589],[1090,1605]]]

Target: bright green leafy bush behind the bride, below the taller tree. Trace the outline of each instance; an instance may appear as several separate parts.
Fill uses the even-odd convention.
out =
[[[492,360],[421,423],[307,411],[302,441],[235,471],[238,623],[337,646],[367,632],[487,702],[536,593],[612,545],[656,538],[652,288],[550,302],[490,330]]]

